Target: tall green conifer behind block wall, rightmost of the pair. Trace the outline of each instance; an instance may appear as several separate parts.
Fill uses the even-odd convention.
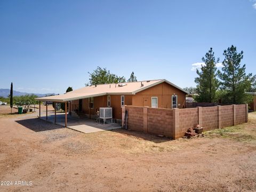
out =
[[[237,53],[236,47],[231,45],[224,50],[225,59],[222,62],[222,71],[218,71],[221,79],[221,90],[225,90],[225,103],[239,104],[246,102],[245,91],[252,84],[252,74],[245,74],[245,65],[241,66],[243,51]]]

